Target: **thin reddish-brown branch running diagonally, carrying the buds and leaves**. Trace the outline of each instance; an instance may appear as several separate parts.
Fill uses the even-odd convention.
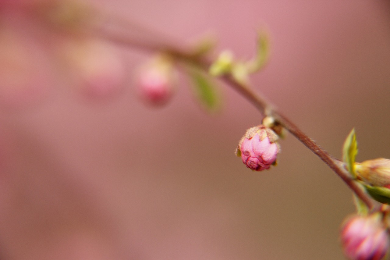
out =
[[[112,17],[115,20],[115,17]],[[118,24],[124,24],[121,21]],[[135,26],[134,23],[129,23],[132,26]],[[101,24],[100,24],[101,25]],[[139,30],[142,30],[144,27],[138,27]],[[197,66],[198,68],[208,72],[208,69],[211,65],[211,59],[199,58],[192,55],[190,52],[186,52],[181,48],[174,46],[170,43],[163,42],[161,37],[155,37],[154,39],[160,39],[158,41],[145,41],[140,40],[137,37],[134,37],[130,33],[126,34],[125,30],[121,30],[120,33],[115,33],[115,30],[112,28],[107,28],[104,26],[101,27],[92,27],[92,35],[101,37],[113,43],[123,45],[130,48],[136,48],[145,52],[166,52],[174,57],[177,61],[184,62],[185,64],[191,64],[192,66]],[[146,30],[146,33],[151,33],[151,30]],[[161,34],[158,34],[161,35]],[[154,37],[153,35],[149,35]],[[167,39],[164,37],[164,39]],[[275,121],[282,125],[288,132],[290,132],[296,139],[302,142],[310,151],[317,155],[323,162],[328,165],[345,183],[346,185],[360,198],[370,209],[374,208],[373,200],[360,188],[360,186],[351,178],[348,171],[344,167],[344,163],[340,160],[332,157],[328,152],[321,148],[316,142],[314,142],[310,137],[308,137],[300,128],[298,128],[294,123],[292,123],[288,118],[283,116],[278,112],[270,102],[268,102],[263,96],[259,93],[255,93],[249,84],[244,85],[240,82],[237,82],[232,76],[225,75],[221,78],[227,85],[234,88],[239,94],[245,97],[254,107],[261,112],[263,115],[273,116]]]

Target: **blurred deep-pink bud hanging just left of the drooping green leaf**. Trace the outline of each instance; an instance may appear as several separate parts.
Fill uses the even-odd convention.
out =
[[[139,71],[141,98],[152,105],[166,104],[174,92],[175,75],[170,61],[158,57]]]

